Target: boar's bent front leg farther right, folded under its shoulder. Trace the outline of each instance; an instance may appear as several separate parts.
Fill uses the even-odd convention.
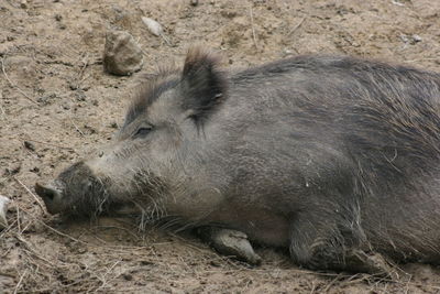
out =
[[[333,216],[299,214],[292,222],[290,255],[295,263],[311,270],[363,272],[395,279],[397,271],[378,253],[370,252],[366,240],[355,231],[341,231]]]

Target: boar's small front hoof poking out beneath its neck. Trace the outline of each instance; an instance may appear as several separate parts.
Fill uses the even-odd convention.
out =
[[[201,227],[198,229],[198,233],[223,255],[234,257],[253,265],[261,263],[261,258],[254,252],[248,236],[242,231]]]

